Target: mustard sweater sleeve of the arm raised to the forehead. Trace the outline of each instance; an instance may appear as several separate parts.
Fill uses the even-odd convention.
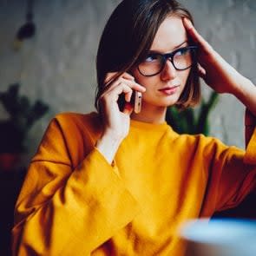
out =
[[[207,163],[209,174],[203,215],[236,207],[256,190],[255,124],[255,117],[246,110],[246,152],[216,140],[208,143],[205,154],[207,159],[211,154],[212,160]],[[208,212],[209,209],[213,212]]]

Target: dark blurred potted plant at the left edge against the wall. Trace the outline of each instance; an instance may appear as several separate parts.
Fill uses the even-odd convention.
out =
[[[24,142],[32,125],[41,118],[49,106],[37,100],[34,104],[25,95],[19,95],[19,83],[10,84],[0,92],[0,102],[10,118],[0,121],[0,153],[22,153]]]

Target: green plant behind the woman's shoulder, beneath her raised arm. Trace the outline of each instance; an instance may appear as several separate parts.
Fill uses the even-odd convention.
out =
[[[219,95],[213,91],[206,102],[202,99],[199,114],[195,115],[194,108],[179,110],[176,107],[167,108],[166,121],[179,134],[209,135],[208,116],[218,101]]]

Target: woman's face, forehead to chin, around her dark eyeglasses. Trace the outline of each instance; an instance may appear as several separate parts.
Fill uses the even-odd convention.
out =
[[[150,52],[171,53],[175,49],[188,46],[187,33],[182,20],[177,16],[168,16],[157,31]],[[187,82],[190,69],[176,70],[172,62],[167,60],[161,73],[154,76],[141,75],[138,69],[133,71],[136,82],[144,86],[143,105],[167,107],[178,102]]]

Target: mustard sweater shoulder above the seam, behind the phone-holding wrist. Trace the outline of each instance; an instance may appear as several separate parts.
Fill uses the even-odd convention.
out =
[[[94,147],[101,129],[95,112],[60,113],[49,122],[34,160],[58,156],[65,158],[65,162],[70,158],[75,166]]]

